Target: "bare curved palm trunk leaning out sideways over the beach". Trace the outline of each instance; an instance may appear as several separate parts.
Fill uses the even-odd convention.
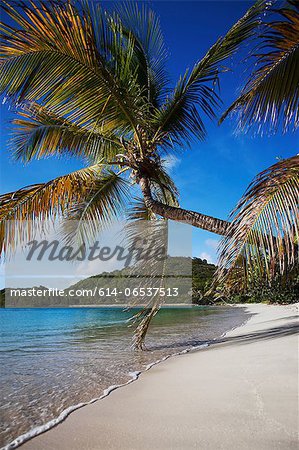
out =
[[[165,219],[175,220],[177,222],[185,222],[203,230],[211,231],[212,233],[225,236],[227,234],[229,222],[215,217],[206,216],[195,211],[177,208],[175,206],[165,205],[152,197],[149,180],[146,177],[141,177],[139,180],[144,202],[147,208],[153,213],[158,214]]]

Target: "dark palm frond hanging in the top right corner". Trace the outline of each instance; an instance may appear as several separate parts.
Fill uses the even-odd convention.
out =
[[[291,3],[291,2],[289,2]],[[258,68],[241,95],[221,118],[237,113],[243,131],[264,129],[276,132],[299,126],[299,7],[278,11],[283,20],[267,24]],[[266,49],[266,50],[265,50]]]

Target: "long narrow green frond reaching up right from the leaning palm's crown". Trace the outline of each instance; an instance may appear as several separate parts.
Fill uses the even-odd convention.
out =
[[[206,129],[199,110],[213,118],[220,104],[215,90],[219,73],[228,70],[223,62],[254,34],[260,24],[260,15],[268,7],[259,0],[246,14],[217,40],[206,55],[180,78],[172,95],[156,112],[156,139],[164,145],[188,143],[194,136],[204,139]]]

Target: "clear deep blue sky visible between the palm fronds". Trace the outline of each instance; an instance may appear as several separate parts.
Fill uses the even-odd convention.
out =
[[[175,82],[187,67],[241,17],[254,2],[248,1],[159,1],[151,2],[160,15],[169,49],[168,69]],[[221,82],[223,110],[240,92],[246,77],[246,64],[236,63],[233,73]],[[47,159],[26,166],[11,160],[7,149],[10,133],[9,113],[0,105],[0,191],[18,189],[43,182],[82,167],[80,160]],[[274,164],[277,157],[298,153],[298,134],[253,137],[236,135],[235,123],[227,120],[220,127],[206,120],[207,140],[193,143],[169,161],[171,174],[180,191],[182,207],[215,217],[226,218],[252,178]],[[217,236],[194,229],[193,255],[215,261]]]

